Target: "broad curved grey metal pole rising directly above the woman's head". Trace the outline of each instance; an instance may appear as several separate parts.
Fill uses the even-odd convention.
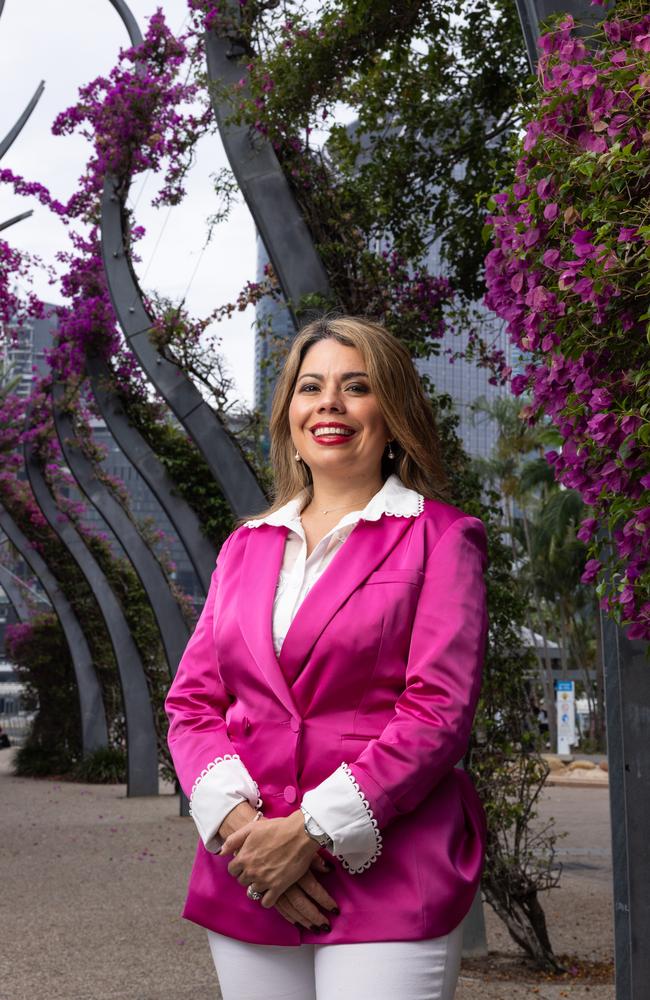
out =
[[[226,6],[237,16],[238,4]],[[248,81],[246,57],[240,58],[243,46],[212,30],[206,33],[205,48],[221,141],[297,323],[297,310],[305,295],[318,293],[332,299],[327,272],[271,143],[259,135],[253,138],[247,126],[227,123],[233,107],[224,94],[225,87]],[[239,89],[238,96],[246,90]]]

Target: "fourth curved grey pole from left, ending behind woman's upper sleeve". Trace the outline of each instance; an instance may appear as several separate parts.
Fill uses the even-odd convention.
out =
[[[217,550],[203,534],[201,522],[190,505],[178,495],[173,479],[155,451],[129,423],[118,397],[108,388],[112,374],[106,362],[98,357],[89,357],[86,359],[86,371],[106,426],[171,521],[199,579],[201,589],[207,595]]]

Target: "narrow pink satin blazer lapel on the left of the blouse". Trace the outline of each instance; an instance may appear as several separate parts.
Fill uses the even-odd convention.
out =
[[[295,702],[273,647],[273,600],[289,528],[249,528],[239,578],[237,616],[251,656],[279,701],[297,715]]]

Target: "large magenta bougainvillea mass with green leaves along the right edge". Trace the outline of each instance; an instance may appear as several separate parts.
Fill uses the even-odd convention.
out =
[[[528,419],[562,434],[547,453],[557,480],[592,508],[582,579],[647,639],[650,14],[617,5],[589,51],[573,29],[564,17],[540,39],[539,105],[488,219],[485,302],[529,358],[512,380]]]

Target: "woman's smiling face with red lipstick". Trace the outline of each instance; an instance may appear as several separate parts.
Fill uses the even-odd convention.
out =
[[[291,438],[312,470],[376,478],[390,438],[356,347],[319,340],[306,352],[289,406]]]

